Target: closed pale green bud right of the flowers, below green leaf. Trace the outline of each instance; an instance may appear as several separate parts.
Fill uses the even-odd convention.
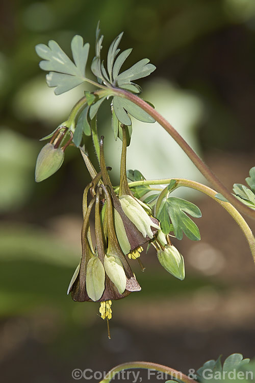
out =
[[[157,255],[166,271],[181,280],[185,278],[184,259],[176,247],[167,245],[164,250],[158,250]]]

